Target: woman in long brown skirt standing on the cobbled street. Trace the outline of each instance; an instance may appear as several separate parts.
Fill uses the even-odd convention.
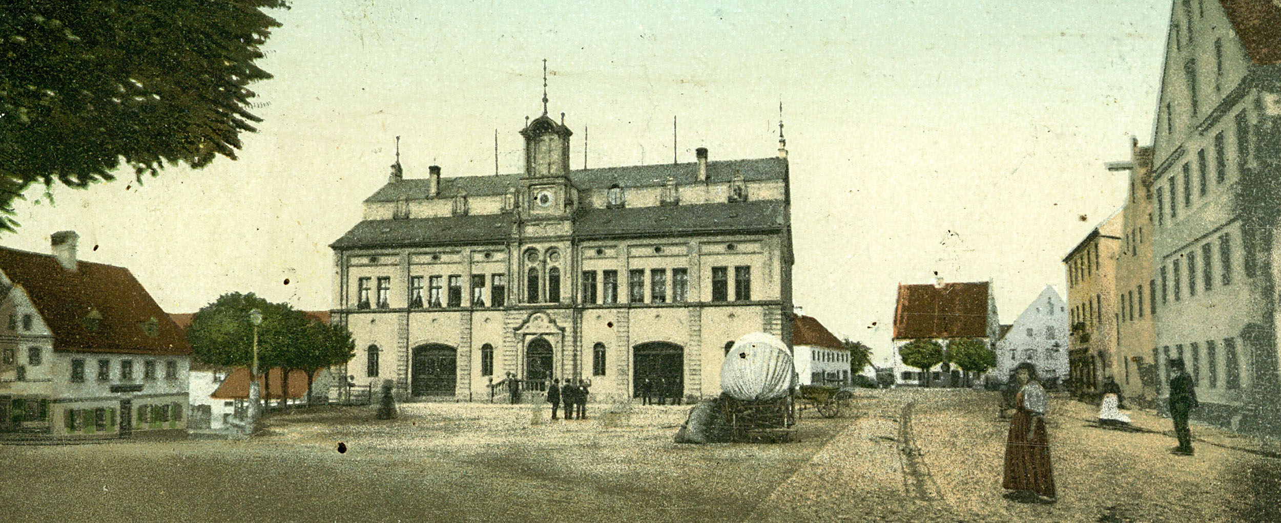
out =
[[[1015,416],[1006,439],[1006,477],[1002,487],[1015,492],[1034,492],[1041,501],[1054,501],[1054,471],[1045,435],[1045,389],[1036,381],[1036,367],[1029,362],[1015,368],[1022,385],[1015,395]]]

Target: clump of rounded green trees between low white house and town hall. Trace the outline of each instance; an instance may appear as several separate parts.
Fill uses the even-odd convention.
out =
[[[316,371],[355,355],[355,341],[342,326],[315,322],[288,303],[272,303],[254,293],[228,293],[196,312],[187,327],[187,341],[196,359],[228,367],[251,366],[254,326],[249,312],[255,308],[263,312],[257,340],[259,372],[279,367],[282,390],[288,390],[291,371],[307,373],[310,391]],[[282,404],[287,400],[284,396],[281,398]]]

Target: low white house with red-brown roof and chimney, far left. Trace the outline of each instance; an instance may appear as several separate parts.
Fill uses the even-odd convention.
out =
[[[128,269],[0,248],[0,431],[102,437],[187,427],[191,347]]]

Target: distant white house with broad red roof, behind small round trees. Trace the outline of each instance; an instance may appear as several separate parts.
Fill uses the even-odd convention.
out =
[[[997,316],[997,299],[991,293],[991,281],[976,283],[935,283],[922,285],[898,285],[898,299],[894,306],[894,368],[898,385],[934,386],[961,385],[961,370],[949,363],[930,368],[926,380],[924,372],[903,364],[899,350],[915,340],[934,340],[947,350],[948,344],[957,339],[974,339],[990,349],[995,349],[1000,334],[1000,321]]]

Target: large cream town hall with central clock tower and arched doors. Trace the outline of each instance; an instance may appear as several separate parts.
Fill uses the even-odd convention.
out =
[[[400,398],[488,399],[491,384],[589,379],[633,398],[647,377],[720,394],[739,336],[790,343],[788,160],[571,170],[564,114],[520,130],[524,173],[427,178],[392,166],[330,247],[346,373]]]

